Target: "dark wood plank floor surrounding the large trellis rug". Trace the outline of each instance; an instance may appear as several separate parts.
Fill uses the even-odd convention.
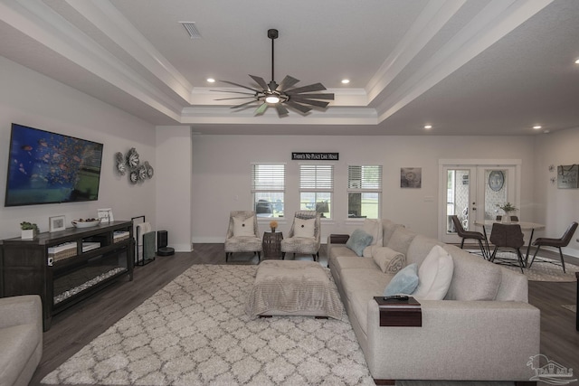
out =
[[[121,279],[82,303],[52,318],[52,328],[44,333],[43,359],[31,385],[40,381],[62,362],[89,344],[132,309],[155,294],[193,264],[225,264],[223,244],[195,244],[190,253],[157,257],[135,268],[132,282]],[[311,259],[311,258],[299,258]],[[327,263],[324,246],[320,260]],[[566,261],[567,259],[565,259]],[[577,264],[574,259],[569,262]],[[229,264],[257,264],[257,257],[235,255]],[[529,282],[529,303],[541,309],[541,353],[567,368],[579,369],[579,332],[575,314],[561,305],[575,304],[576,283]],[[525,321],[520,321],[525,328]]]

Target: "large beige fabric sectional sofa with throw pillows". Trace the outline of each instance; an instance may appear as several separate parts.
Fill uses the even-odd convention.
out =
[[[527,362],[540,353],[540,315],[527,303],[527,278],[392,221],[378,222],[382,229],[364,257],[332,243],[335,237],[327,240],[328,266],[376,383],[529,381],[534,373]],[[454,264],[446,297],[419,300],[421,327],[381,327],[374,297],[395,272],[384,273],[375,256],[394,250],[405,256],[404,265],[420,266],[434,245]]]

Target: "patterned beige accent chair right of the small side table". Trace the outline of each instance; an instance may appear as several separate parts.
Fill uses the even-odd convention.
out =
[[[293,223],[291,224],[291,229],[289,230],[288,238],[281,240],[281,258],[285,259],[286,253],[296,253],[303,255],[311,255],[314,261],[319,258],[319,245],[321,237],[320,228],[320,213],[316,211],[298,211],[294,215]],[[296,219],[300,220],[310,220],[314,221],[314,234],[312,237],[299,237],[299,231],[296,229]]]

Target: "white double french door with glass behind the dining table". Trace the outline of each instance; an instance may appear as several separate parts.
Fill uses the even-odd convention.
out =
[[[475,221],[502,215],[498,205],[511,202],[518,206],[520,163],[508,161],[502,165],[481,165],[480,160],[472,161],[472,165],[464,161],[441,165],[440,240],[460,242],[451,221],[453,214],[465,230],[482,231]]]

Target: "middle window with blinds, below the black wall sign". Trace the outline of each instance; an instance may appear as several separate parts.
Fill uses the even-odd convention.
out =
[[[334,165],[299,165],[299,209],[331,217]]]

